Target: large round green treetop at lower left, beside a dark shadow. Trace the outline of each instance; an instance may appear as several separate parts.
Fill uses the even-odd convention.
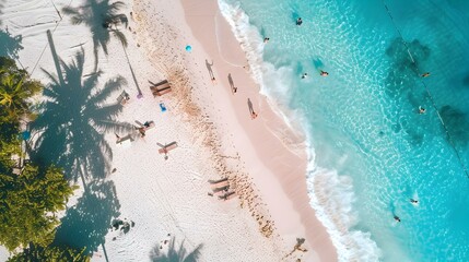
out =
[[[56,212],[65,210],[74,189],[56,167],[26,165],[21,176],[1,174],[0,245],[13,250],[30,242],[50,243],[59,224]]]

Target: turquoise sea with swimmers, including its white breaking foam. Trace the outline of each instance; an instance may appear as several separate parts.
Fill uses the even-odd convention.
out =
[[[469,261],[469,1],[219,3],[262,93],[306,133],[310,204],[339,259]]]

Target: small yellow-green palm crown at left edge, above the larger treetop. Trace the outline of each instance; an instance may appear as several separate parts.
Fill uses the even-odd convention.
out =
[[[31,115],[30,98],[38,94],[43,85],[30,80],[27,72],[17,69],[11,59],[2,58],[0,62],[0,124],[17,122]]]

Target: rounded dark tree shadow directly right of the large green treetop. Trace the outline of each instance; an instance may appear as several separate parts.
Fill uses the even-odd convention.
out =
[[[77,205],[67,210],[57,228],[54,245],[66,245],[77,249],[86,248],[85,253],[97,251],[114,218],[120,215],[113,181],[94,180]]]

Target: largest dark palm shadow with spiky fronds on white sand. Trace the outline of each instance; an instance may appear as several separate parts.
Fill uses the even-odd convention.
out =
[[[70,64],[56,62],[57,75],[44,71],[50,83],[44,90],[45,100],[38,105],[39,116],[31,126],[38,133],[32,158],[65,168],[68,179],[77,181],[81,177],[85,186],[85,178],[104,178],[109,171],[113,153],[104,133],[132,130],[130,123],[115,120],[122,106],[117,100],[106,104],[126,80],[115,76],[97,87],[102,72],[83,74],[83,50]]]

